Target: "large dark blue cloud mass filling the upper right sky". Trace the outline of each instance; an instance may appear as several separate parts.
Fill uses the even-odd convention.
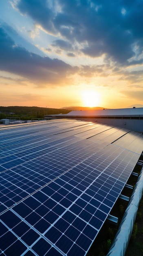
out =
[[[139,55],[143,51],[141,0],[19,0],[16,7],[49,33],[79,43],[81,52],[88,56],[107,54],[128,65],[128,59],[135,56],[135,45]],[[57,40],[55,44],[68,47],[64,42]]]

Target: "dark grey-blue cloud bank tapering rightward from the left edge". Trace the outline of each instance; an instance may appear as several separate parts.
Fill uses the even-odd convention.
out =
[[[68,76],[77,71],[59,59],[42,57],[18,45],[0,27],[0,70],[20,75],[31,82],[44,84],[64,84]]]

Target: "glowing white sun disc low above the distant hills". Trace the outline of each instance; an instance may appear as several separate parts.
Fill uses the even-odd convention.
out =
[[[85,107],[97,107],[100,104],[100,95],[95,90],[86,90],[82,92],[82,101]]]

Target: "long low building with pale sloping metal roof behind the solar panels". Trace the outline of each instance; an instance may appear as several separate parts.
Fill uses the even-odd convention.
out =
[[[143,132],[143,108],[121,108],[71,111],[68,114],[45,115],[45,119],[77,119],[99,122],[136,132]]]

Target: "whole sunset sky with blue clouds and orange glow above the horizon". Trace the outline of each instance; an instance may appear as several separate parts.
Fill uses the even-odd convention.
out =
[[[143,104],[143,0],[0,0],[0,106]]]

